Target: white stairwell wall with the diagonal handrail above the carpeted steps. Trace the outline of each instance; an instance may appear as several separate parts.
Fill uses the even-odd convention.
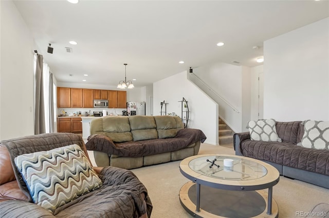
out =
[[[221,119],[235,133],[246,131],[250,120],[250,68],[215,62],[194,68],[193,74],[207,84],[189,77],[218,103]]]

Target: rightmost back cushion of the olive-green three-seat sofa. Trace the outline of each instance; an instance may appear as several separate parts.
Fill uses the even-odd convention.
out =
[[[184,128],[181,119],[173,116],[154,116],[159,139],[173,138]]]

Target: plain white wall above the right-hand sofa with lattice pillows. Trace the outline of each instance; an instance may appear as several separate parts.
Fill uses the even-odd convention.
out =
[[[329,120],[329,18],[264,42],[264,118]]]

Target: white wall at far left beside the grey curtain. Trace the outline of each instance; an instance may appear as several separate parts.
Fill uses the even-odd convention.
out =
[[[0,1],[0,140],[34,134],[33,50],[38,50],[12,1]]]

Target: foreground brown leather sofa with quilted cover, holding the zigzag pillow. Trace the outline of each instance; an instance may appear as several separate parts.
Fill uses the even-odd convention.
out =
[[[0,217],[150,217],[147,189],[129,170],[94,167],[102,186],[60,206],[57,211],[32,203],[13,159],[23,154],[77,144],[87,152],[82,137],[71,133],[41,134],[0,142]]]

